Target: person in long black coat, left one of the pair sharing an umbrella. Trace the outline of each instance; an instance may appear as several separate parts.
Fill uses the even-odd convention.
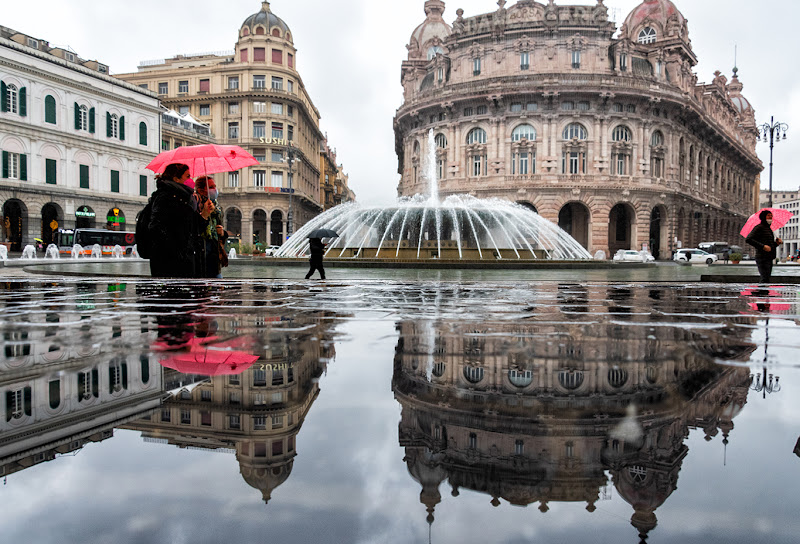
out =
[[[153,240],[150,274],[154,277],[195,276],[200,213],[194,190],[185,185],[188,179],[185,164],[170,164],[156,178],[148,225]]]

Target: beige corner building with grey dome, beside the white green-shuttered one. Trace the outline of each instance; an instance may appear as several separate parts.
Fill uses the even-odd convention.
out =
[[[239,28],[233,52],[143,62],[117,75],[208,123],[217,143],[240,145],[258,159],[258,166],[215,176],[226,228],[244,243],[281,245],[290,228],[322,211],[324,135],[297,66],[291,30],[262,2]]]

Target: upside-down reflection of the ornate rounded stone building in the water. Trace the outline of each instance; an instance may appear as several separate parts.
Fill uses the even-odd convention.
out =
[[[697,295],[714,304],[716,294],[691,303],[660,289],[605,295],[562,285],[558,305],[526,309],[531,321],[397,325],[399,440],[429,523],[445,480],[453,496],[469,489],[494,506],[538,503],[542,512],[562,501],[593,512],[613,486],[644,540],[677,487],[690,430],[709,441],[721,434],[727,446],[750,373],[712,357],[747,361],[747,333],[698,335],[651,312],[696,313]],[[602,308],[615,318],[587,318]]]

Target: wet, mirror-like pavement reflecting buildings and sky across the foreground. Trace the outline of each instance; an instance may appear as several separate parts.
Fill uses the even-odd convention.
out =
[[[369,274],[6,277],[4,538],[797,541],[798,287]]]

